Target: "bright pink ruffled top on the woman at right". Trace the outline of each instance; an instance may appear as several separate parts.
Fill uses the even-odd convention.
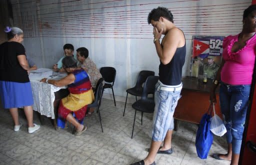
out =
[[[223,40],[222,57],[225,63],[221,69],[221,81],[231,85],[251,84],[255,61],[256,34],[245,43],[245,46],[236,52],[231,48],[238,40],[238,36],[227,36]]]

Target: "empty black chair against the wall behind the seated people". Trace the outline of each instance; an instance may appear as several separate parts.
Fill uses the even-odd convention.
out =
[[[111,88],[112,93],[113,93],[113,98],[114,98],[113,85],[114,85],[114,80],[115,80],[115,75],[116,75],[115,68],[114,67],[101,67],[99,72],[105,81],[105,84],[103,86],[103,91],[105,88]],[[114,99],[114,106],[116,106],[115,99]]]

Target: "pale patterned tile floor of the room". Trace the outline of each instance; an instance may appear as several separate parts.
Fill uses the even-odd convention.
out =
[[[102,99],[100,113],[104,132],[101,132],[97,113],[85,117],[87,130],[80,136],[67,129],[54,130],[49,119],[32,134],[27,133],[24,113],[20,110],[19,119],[24,125],[14,132],[8,110],[0,109],[0,164],[129,164],[143,159],[150,146],[152,114],[137,113],[133,139],[130,138],[134,110],[127,104],[124,117],[123,102]],[[40,123],[37,112],[34,122]],[[157,154],[156,164],[229,164],[229,161],[216,160],[210,156],[200,159],[195,150],[196,124],[179,122],[173,131],[171,155]],[[214,136],[209,155],[225,153],[224,137]]]

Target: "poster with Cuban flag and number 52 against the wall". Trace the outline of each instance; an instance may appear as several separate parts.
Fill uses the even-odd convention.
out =
[[[198,76],[198,66],[203,62],[204,68],[216,70],[222,55],[224,36],[193,36],[190,75]],[[208,72],[211,76],[214,73]],[[211,77],[210,77],[211,78]]]

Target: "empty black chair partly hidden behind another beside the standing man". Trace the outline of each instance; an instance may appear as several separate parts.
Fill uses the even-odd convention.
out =
[[[146,81],[146,78],[149,75],[154,75],[154,71],[150,71],[150,70],[140,71],[139,74],[138,74],[135,86],[131,87],[131,88],[128,88],[126,90],[126,99],[125,99],[125,104],[124,104],[124,109],[123,109],[123,115],[122,116],[124,116],[124,113],[125,113],[128,93],[131,94],[131,95],[135,95],[136,101],[137,101],[137,96],[141,97],[141,95],[142,95],[142,90],[143,90],[142,84]]]

